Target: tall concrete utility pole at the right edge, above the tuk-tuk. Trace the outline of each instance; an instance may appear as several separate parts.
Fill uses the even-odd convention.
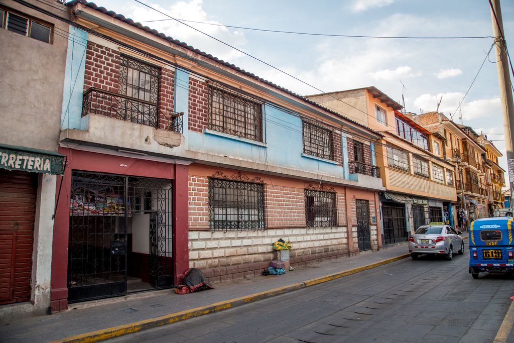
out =
[[[505,146],[507,147],[507,169],[509,174],[510,195],[514,195],[514,151],[512,141],[514,140],[514,104],[512,102],[512,91],[510,73],[507,57],[505,36],[503,34],[502,10],[500,0],[490,0],[492,32],[494,33],[494,45],[498,63],[498,80],[500,81],[500,99],[502,101],[503,127],[505,130]]]

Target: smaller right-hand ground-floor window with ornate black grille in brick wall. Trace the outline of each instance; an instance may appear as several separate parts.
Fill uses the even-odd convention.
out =
[[[336,193],[306,189],[305,220],[307,227],[336,226]]]

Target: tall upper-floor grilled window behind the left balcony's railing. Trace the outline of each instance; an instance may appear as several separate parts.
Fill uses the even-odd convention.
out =
[[[118,91],[130,97],[118,104],[125,120],[157,127],[159,79],[160,68],[120,56]]]

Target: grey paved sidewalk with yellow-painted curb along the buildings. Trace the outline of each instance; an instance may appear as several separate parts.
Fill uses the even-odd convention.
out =
[[[467,234],[463,235],[467,236]],[[281,276],[215,284],[214,290],[177,295],[173,290],[71,304],[70,310],[0,326],[2,342],[95,341],[233,308],[409,257],[407,242],[350,258],[299,267]],[[73,337],[72,339],[65,339]]]

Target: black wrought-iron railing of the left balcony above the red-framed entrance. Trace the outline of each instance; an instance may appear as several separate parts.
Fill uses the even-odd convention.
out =
[[[82,116],[96,114],[158,128],[157,104],[91,87],[84,92]],[[182,116],[174,115],[170,130],[182,132]]]

